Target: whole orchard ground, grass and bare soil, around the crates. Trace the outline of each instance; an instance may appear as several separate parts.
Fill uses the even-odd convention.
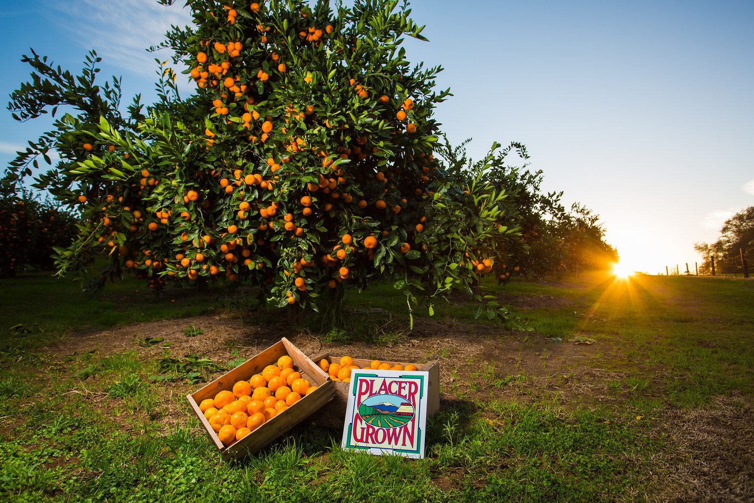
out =
[[[317,333],[249,292],[155,298],[126,281],[90,298],[45,275],[0,281],[0,499],[754,498],[754,282],[587,275],[484,287],[510,323],[474,321],[459,296],[433,317],[415,309],[409,333],[405,299],[385,284],[348,305],[389,317]],[[425,459],[343,451],[341,432],[302,424],[223,462],[184,396],[280,336],[332,354],[440,360]]]

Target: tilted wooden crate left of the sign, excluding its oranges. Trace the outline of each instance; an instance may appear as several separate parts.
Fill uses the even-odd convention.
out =
[[[199,403],[205,398],[214,398],[219,391],[232,390],[233,385],[242,380],[248,380],[251,376],[257,373],[261,373],[268,365],[274,365],[277,359],[287,354],[293,359],[293,364],[302,376],[311,382],[312,385],[318,386],[316,390],[311,392],[306,397],[302,397],[301,400],[294,403],[284,412],[274,416],[274,418],[265,422],[259,428],[252,431],[246,437],[241,440],[236,440],[229,446],[222,445],[219,437],[210,426],[210,422],[204,418],[204,414],[199,410]],[[198,416],[201,424],[204,425],[204,429],[207,434],[210,435],[213,443],[217,449],[219,449],[222,458],[227,460],[242,459],[247,454],[253,454],[254,452],[262,449],[265,445],[275,440],[286,431],[293,428],[296,424],[305,419],[311,413],[314,413],[317,409],[320,409],[325,403],[329,402],[335,394],[335,388],[333,387],[333,381],[329,379],[326,373],[317,366],[316,363],[306,357],[299,348],[296,348],[288,339],[280,339],[280,342],[276,342],[269,348],[265,349],[255,357],[241,363],[238,367],[234,368],[230,372],[218,379],[215,379],[210,384],[204,386],[198,391],[192,394],[186,395],[189,403],[194,409],[194,412]]]

